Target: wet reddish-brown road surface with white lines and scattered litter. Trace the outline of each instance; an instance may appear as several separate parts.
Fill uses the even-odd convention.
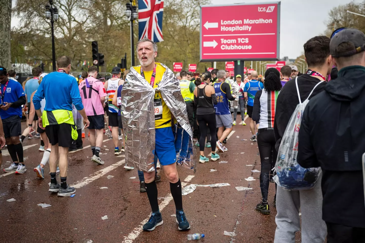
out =
[[[25,128],[25,123],[22,125]],[[183,186],[230,184],[220,188],[197,187],[183,196],[184,211],[191,224],[191,229],[185,232],[177,229],[175,217],[171,216],[175,213],[175,205],[163,169],[158,170],[162,179],[157,188],[164,224],[151,232],[142,231],[151,210],[147,194],[139,192],[137,169],[126,171],[123,168],[124,153],[114,156],[111,140],[105,141],[101,148],[104,165],[91,161],[90,148],[69,153],[68,184],[77,188],[73,198],[58,197],[57,193],[48,192],[48,164],[45,166],[45,180],[39,179],[33,172],[43,156],[43,152],[38,151],[39,139],[24,140],[27,172],[23,175],[3,172],[11,161],[4,148],[0,172],[0,242],[188,242],[187,235],[193,233],[205,234],[200,242],[273,242],[275,187],[274,183],[270,183],[271,214],[262,215],[255,211],[255,205],[261,200],[260,173],[251,171],[261,171],[261,168],[257,142],[251,142],[250,137],[249,126],[236,125],[227,141],[228,152],[220,153],[220,160],[199,163],[195,174],[178,168]],[[88,137],[83,140],[84,147],[88,146]],[[205,155],[210,153],[209,150],[205,149]],[[219,164],[219,161],[228,162]],[[216,171],[210,172],[211,169]],[[113,177],[108,179],[108,176]],[[255,181],[246,181],[249,176],[253,176]],[[237,191],[235,187],[253,190]],[[16,201],[6,201],[11,198]],[[50,204],[51,207],[42,208],[37,205],[39,203]],[[102,220],[105,215],[108,219]],[[224,231],[235,232],[235,236],[223,235]]]

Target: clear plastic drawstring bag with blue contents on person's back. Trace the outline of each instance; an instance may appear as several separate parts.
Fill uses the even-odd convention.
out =
[[[273,178],[278,186],[287,190],[311,189],[322,173],[320,167],[308,169],[301,167],[296,158],[298,154],[299,128],[304,109],[306,109],[309,97],[314,89],[324,81],[317,83],[308,95],[308,98],[302,103],[297,79],[298,77],[295,79],[295,84],[299,104],[296,106],[281,140],[275,164],[276,176]]]

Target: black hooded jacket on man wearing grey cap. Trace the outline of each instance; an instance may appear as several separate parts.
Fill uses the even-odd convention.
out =
[[[365,228],[364,152],[365,67],[350,66],[310,100],[299,130],[298,163],[323,171],[324,221]]]

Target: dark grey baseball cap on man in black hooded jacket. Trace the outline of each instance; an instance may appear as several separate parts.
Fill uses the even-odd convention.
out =
[[[340,44],[349,42],[354,45],[354,49],[351,51],[341,52],[337,51]],[[330,42],[330,52],[335,58],[352,56],[357,53],[365,51],[365,35],[357,29],[345,29],[338,32]]]

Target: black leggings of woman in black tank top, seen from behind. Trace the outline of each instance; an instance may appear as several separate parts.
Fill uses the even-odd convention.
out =
[[[200,129],[199,150],[204,151],[205,137],[207,137],[207,132],[209,128],[211,135],[212,152],[215,152],[215,144],[217,142],[215,136],[215,129],[217,124],[215,121],[215,113],[209,115],[196,115],[196,120],[199,123],[199,129]]]

